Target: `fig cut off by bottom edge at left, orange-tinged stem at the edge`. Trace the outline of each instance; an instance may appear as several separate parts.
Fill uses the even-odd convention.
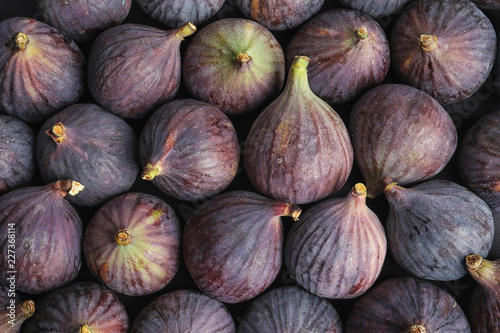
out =
[[[83,329],[82,329],[83,328]],[[23,333],[127,333],[129,317],[119,298],[95,282],[75,282],[45,294]]]

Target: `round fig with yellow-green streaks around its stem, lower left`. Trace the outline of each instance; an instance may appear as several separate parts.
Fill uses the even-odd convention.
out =
[[[99,207],[83,241],[94,276],[130,296],[165,287],[179,269],[180,249],[181,226],[172,207],[141,192],[121,194]]]

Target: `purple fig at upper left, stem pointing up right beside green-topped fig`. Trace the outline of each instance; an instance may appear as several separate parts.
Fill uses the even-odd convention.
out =
[[[147,116],[179,90],[180,45],[195,32],[191,23],[171,30],[133,23],[106,29],[90,49],[90,94],[120,117]]]

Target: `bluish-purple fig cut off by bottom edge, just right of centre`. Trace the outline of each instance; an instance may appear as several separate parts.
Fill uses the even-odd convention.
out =
[[[337,310],[326,299],[299,286],[282,286],[252,301],[238,333],[342,333]]]

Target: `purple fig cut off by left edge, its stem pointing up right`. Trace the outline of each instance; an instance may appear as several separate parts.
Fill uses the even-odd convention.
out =
[[[81,266],[82,220],[66,200],[83,190],[70,179],[0,196],[1,281],[41,294],[72,281]]]

